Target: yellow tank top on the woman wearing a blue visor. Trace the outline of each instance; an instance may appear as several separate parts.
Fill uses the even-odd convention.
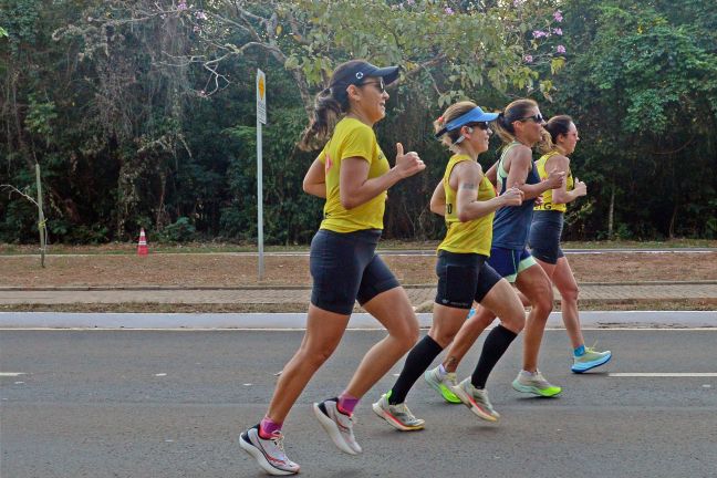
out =
[[[472,159],[467,155],[455,155],[446,166],[443,185],[446,191],[446,237],[438,246],[438,250],[456,253],[479,253],[490,256],[490,242],[492,241],[492,219],[495,212],[477,219],[460,222],[456,210],[457,191],[450,187],[450,173],[458,163]],[[486,176],[478,186],[478,200],[488,200],[496,197],[492,184]]]

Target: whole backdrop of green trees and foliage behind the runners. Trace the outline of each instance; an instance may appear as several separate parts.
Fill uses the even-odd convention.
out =
[[[0,25],[0,184],[32,195],[42,165],[53,242],[131,240],[141,227],[254,241],[261,67],[264,238],[308,243],[323,201],[302,191],[315,153],[295,142],[313,93],[352,58],[402,65],[377,137],[392,163],[402,142],[427,164],[389,191],[387,238],[445,232],[427,209],[449,156],[432,131],[445,106],[522,96],[580,129],[571,164],[589,196],[569,209],[569,238],[606,237],[613,194],[613,236],[717,236],[708,0],[4,0]],[[0,211],[1,241],[37,240],[29,201],[0,195]]]

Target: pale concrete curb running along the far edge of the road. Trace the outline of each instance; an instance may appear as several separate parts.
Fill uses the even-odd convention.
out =
[[[420,326],[430,326],[432,314],[417,314]],[[620,311],[581,312],[584,328],[717,328],[715,311]],[[53,313],[0,312],[3,329],[303,329],[305,313]],[[562,328],[560,313],[548,320],[551,329]],[[383,329],[370,314],[351,316],[350,329]]]

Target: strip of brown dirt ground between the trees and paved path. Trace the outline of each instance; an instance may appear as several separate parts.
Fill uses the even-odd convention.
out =
[[[384,256],[403,284],[434,284],[435,257]],[[717,252],[570,254],[578,282],[717,280]],[[311,285],[308,257],[266,258],[236,253],[112,256],[0,256],[0,287],[248,287]]]

